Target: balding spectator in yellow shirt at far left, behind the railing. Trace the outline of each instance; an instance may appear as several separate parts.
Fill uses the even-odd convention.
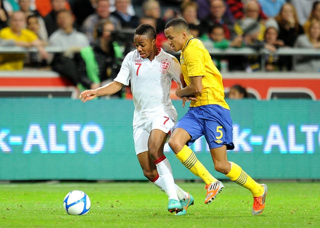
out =
[[[25,14],[22,11],[12,13],[10,26],[0,30],[0,39],[11,39],[15,45],[22,47],[36,47],[42,58],[48,57],[41,41],[33,31],[25,28]],[[23,53],[0,54],[0,70],[20,70],[23,68]]]

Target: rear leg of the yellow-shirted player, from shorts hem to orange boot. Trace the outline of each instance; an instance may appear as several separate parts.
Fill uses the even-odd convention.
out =
[[[242,168],[227,160],[226,146],[210,149],[214,169],[225,174],[232,181],[249,189],[253,196],[252,215],[259,215],[264,210],[267,186],[255,182]]]

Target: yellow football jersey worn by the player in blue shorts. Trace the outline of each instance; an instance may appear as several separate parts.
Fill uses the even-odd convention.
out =
[[[224,100],[222,76],[199,39],[190,36],[185,41],[180,54],[180,64],[186,85],[190,84],[190,77],[202,76],[202,91],[195,96],[196,100],[191,101],[191,107],[218,104],[230,109]]]

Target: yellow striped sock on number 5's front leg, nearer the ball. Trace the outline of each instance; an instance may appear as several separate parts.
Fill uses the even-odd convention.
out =
[[[183,148],[175,154],[175,156],[187,169],[189,169],[194,175],[199,176],[206,184],[217,181],[217,179],[209,173],[187,145],[184,145]]]

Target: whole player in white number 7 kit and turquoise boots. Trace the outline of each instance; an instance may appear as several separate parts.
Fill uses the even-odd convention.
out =
[[[111,95],[131,82],[133,95],[134,148],[143,174],[168,196],[169,212],[186,214],[193,197],[174,183],[163,146],[174,126],[177,113],[170,99],[172,79],[180,82],[180,64],[171,54],[157,48],[156,32],[149,24],[139,25],[134,33],[136,49],[122,61],[114,80],[97,89],[84,90],[83,102],[97,96]]]

